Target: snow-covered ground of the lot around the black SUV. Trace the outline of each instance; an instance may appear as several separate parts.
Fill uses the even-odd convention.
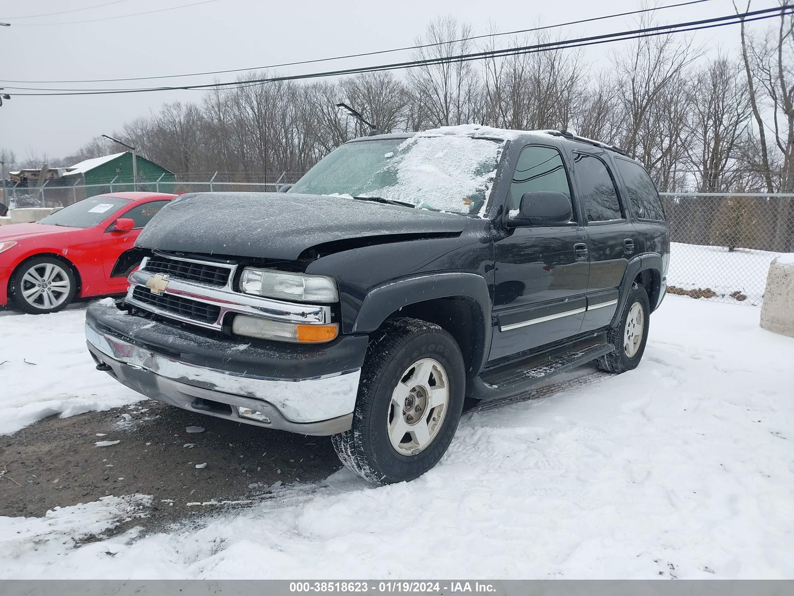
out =
[[[56,331],[56,316],[69,331]],[[58,364],[68,392],[128,398],[102,377],[74,380],[90,368],[76,355],[79,316],[13,325],[49,329],[57,347],[38,340],[34,362]],[[758,317],[667,296],[638,370],[469,413],[414,482],[372,486],[342,470],[168,533],[81,546],[146,497],[0,518],[0,577],[792,579],[794,339]],[[36,392],[17,379],[25,366],[0,367],[11,393],[27,396],[14,403]],[[52,378],[29,382],[46,399],[60,391]]]

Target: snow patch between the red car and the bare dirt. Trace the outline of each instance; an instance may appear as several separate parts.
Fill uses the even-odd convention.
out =
[[[96,370],[85,308],[51,315],[0,312],[0,435],[53,414],[75,416],[145,399]]]

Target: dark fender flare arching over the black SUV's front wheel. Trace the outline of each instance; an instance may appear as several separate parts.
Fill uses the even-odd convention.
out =
[[[480,308],[482,346],[477,346],[480,351],[477,354],[479,358],[472,358],[472,368],[475,373],[479,373],[491,346],[493,327],[491,290],[485,278],[476,273],[430,273],[377,286],[364,296],[352,332],[372,333],[389,315],[409,304],[455,296],[471,298]]]

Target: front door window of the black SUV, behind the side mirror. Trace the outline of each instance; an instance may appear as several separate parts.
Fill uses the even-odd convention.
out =
[[[521,197],[526,192],[561,192],[571,201],[571,187],[565,173],[565,164],[557,149],[524,147],[518,156],[510,185],[511,209],[521,207]],[[573,204],[571,212],[574,212]]]

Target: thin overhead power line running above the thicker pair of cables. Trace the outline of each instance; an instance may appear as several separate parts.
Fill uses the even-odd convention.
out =
[[[497,37],[502,35],[518,35],[518,33],[532,33],[534,31],[542,31],[545,29],[557,29],[558,27],[566,27],[569,25],[580,25],[582,23],[589,23],[592,21],[603,21],[607,18],[617,18],[617,17],[627,17],[634,14],[643,14],[648,12],[653,12],[657,10],[664,10],[667,8],[677,8],[679,6],[689,6],[691,4],[700,4],[701,2],[711,2],[711,0],[689,0],[688,2],[680,2],[679,4],[670,4],[667,6],[655,6],[653,8],[646,8],[642,10],[631,10],[627,13],[618,13],[618,14],[607,14],[602,17],[591,17],[581,19],[580,21],[569,21],[567,23],[557,23],[557,25],[544,25],[542,27],[533,27],[532,29],[518,29],[517,31],[507,31],[505,33],[486,33],[484,35],[477,35],[474,37],[467,37],[465,40],[458,39],[452,41],[440,41],[434,44],[423,44],[423,45],[410,45],[404,48],[392,48],[386,50],[378,50],[376,52],[362,52],[360,54],[348,54],[346,56],[333,56],[332,58],[318,58],[315,60],[301,60],[299,62],[287,62],[284,64],[268,64],[267,66],[256,66],[251,68],[229,68],[227,70],[222,71],[206,71],[206,72],[190,72],[186,74],[180,75],[159,75],[159,76],[137,76],[137,77],[129,77],[126,79],[72,79],[72,80],[58,80],[58,81],[31,81],[31,80],[10,80],[10,79],[0,79],[2,83],[41,83],[41,84],[58,84],[58,83],[120,83],[122,81],[145,81],[145,80],[153,80],[153,79],[177,79],[186,76],[204,76],[204,75],[225,75],[229,74],[229,72],[246,72],[246,71],[262,71],[268,70],[270,68],[283,68],[287,66],[299,66],[302,64],[317,64],[318,62],[329,62],[332,60],[346,60],[349,58],[360,58],[363,56],[377,56],[379,54],[387,54],[391,52],[405,52],[407,50],[414,50],[414,49],[422,49],[422,48],[434,48],[438,45],[449,45],[449,44],[457,44],[461,41],[469,41],[469,40],[476,40],[476,39],[483,39],[484,37]]]

